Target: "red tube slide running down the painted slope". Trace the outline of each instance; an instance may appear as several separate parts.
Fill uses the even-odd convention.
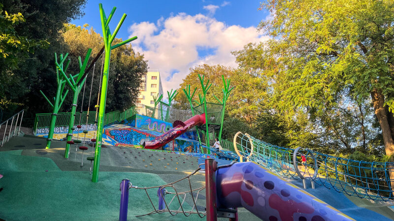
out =
[[[159,149],[171,140],[181,136],[186,131],[190,130],[192,127],[205,124],[205,113],[201,115],[195,115],[194,117],[188,119],[185,122],[176,120],[172,124],[172,129],[162,134],[161,136],[142,143],[142,146],[146,149]]]

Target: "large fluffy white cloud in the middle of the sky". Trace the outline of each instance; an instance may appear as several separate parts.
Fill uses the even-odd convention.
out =
[[[214,18],[180,13],[155,23],[141,22],[129,28],[138,36],[132,45],[145,55],[149,68],[159,69],[164,93],[177,89],[189,68],[200,64],[236,67],[231,51],[240,50],[249,42],[268,39],[256,27],[227,26]],[[198,55],[199,50],[209,53]],[[172,74],[171,74],[172,73]]]

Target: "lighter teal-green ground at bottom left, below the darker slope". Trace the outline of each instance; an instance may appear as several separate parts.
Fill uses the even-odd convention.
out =
[[[92,183],[89,172],[12,172],[0,180],[0,218],[11,220],[117,220],[119,219],[122,179],[137,186],[161,185],[156,174],[135,172],[101,172]],[[156,189],[150,190],[157,206]],[[179,204],[178,204],[179,206]],[[190,206],[187,206],[190,209]],[[129,220],[184,220],[167,213],[136,218],[152,211],[145,191],[130,190]],[[200,220],[192,215],[188,220]]]

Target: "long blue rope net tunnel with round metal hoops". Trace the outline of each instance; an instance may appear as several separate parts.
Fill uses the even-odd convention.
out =
[[[394,162],[356,161],[308,149],[295,151],[240,132],[233,144],[243,161],[253,161],[280,176],[300,179],[297,167],[304,178],[328,189],[371,200],[394,200],[394,179],[390,179],[390,173],[394,177]]]

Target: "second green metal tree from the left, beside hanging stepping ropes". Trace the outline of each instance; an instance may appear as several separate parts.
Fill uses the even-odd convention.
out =
[[[70,76],[69,79],[66,78],[66,82],[67,82],[68,86],[71,88],[72,92],[74,92],[74,95],[72,97],[72,105],[71,105],[71,117],[70,117],[70,122],[68,124],[67,141],[70,141],[72,139],[72,133],[74,130],[75,112],[77,109],[78,95],[81,92],[82,85],[86,81],[87,75],[84,76],[84,73],[85,73],[85,68],[86,68],[86,65],[88,64],[88,60],[89,60],[91,53],[92,53],[92,49],[88,49],[88,52],[85,56],[83,63],[81,61],[81,57],[79,56],[78,57],[79,74],[77,74],[75,76],[69,75]],[[62,73],[62,75],[63,75],[63,73]],[[80,80],[82,80],[82,81],[80,81]],[[88,114],[89,114],[89,112],[88,112]],[[70,144],[66,143],[65,158],[68,158],[69,150],[70,150]]]

